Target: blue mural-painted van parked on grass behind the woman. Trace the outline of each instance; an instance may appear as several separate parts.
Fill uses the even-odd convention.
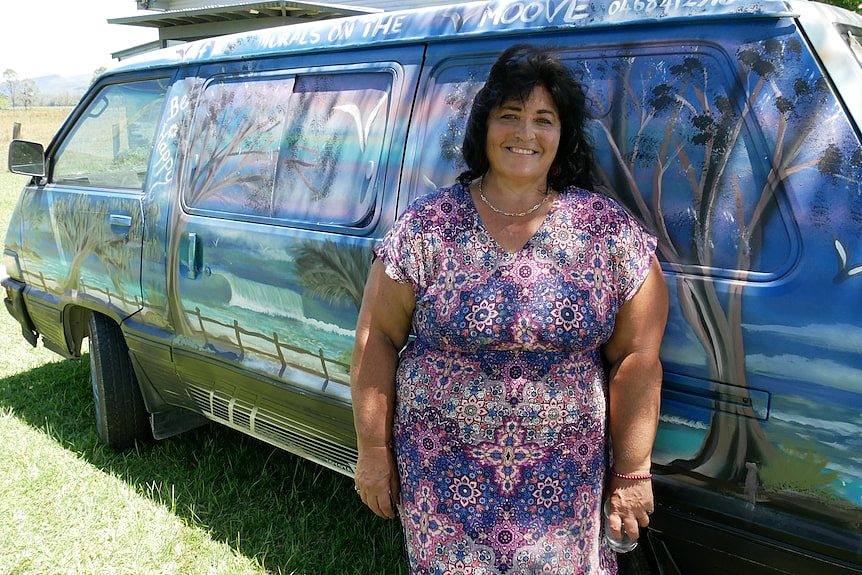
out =
[[[789,0],[502,0],[201,40],[101,76],[5,242],[23,337],[89,338],[124,448],[214,421],[351,475],[371,250],[454,182],[516,42],[588,89],[670,288],[647,571],[862,574],[862,16]]]

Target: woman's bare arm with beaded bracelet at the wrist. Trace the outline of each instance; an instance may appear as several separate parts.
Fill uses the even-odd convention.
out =
[[[658,426],[662,367],[659,349],[667,322],[668,296],[661,267],[653,258],[640,289],[620,307],[616,327],[605,344],[610,363],[610,430],[614,467],[609,470],[609,527],[620,525],[637,539],[638,526],[649,524],[654,508],[649,480],[622,479],[650,471]]]

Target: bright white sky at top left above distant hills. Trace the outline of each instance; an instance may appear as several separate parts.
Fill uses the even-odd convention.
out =
[[[135,0],[0,0],[0,74],[75,76],[111,67],[111,52],[157,40],[158,32],[106,20],[143,14]]]

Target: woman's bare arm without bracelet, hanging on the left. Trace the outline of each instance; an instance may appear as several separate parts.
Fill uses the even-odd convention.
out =
[[[392,451],[395,371],[407,341],[415,296],[411,284],[397,283],[380,260],[371,266],[356,323],[350,370],[353,422],[359,460],[355,483],[362,501],[381,517],[395,517],[398,470]]]

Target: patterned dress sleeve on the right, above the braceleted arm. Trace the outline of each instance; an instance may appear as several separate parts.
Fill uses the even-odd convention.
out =
[[[618,205],[616,233],[608,238],[611,267],[620,305],[629,301],[649,274],[657,240]]]

